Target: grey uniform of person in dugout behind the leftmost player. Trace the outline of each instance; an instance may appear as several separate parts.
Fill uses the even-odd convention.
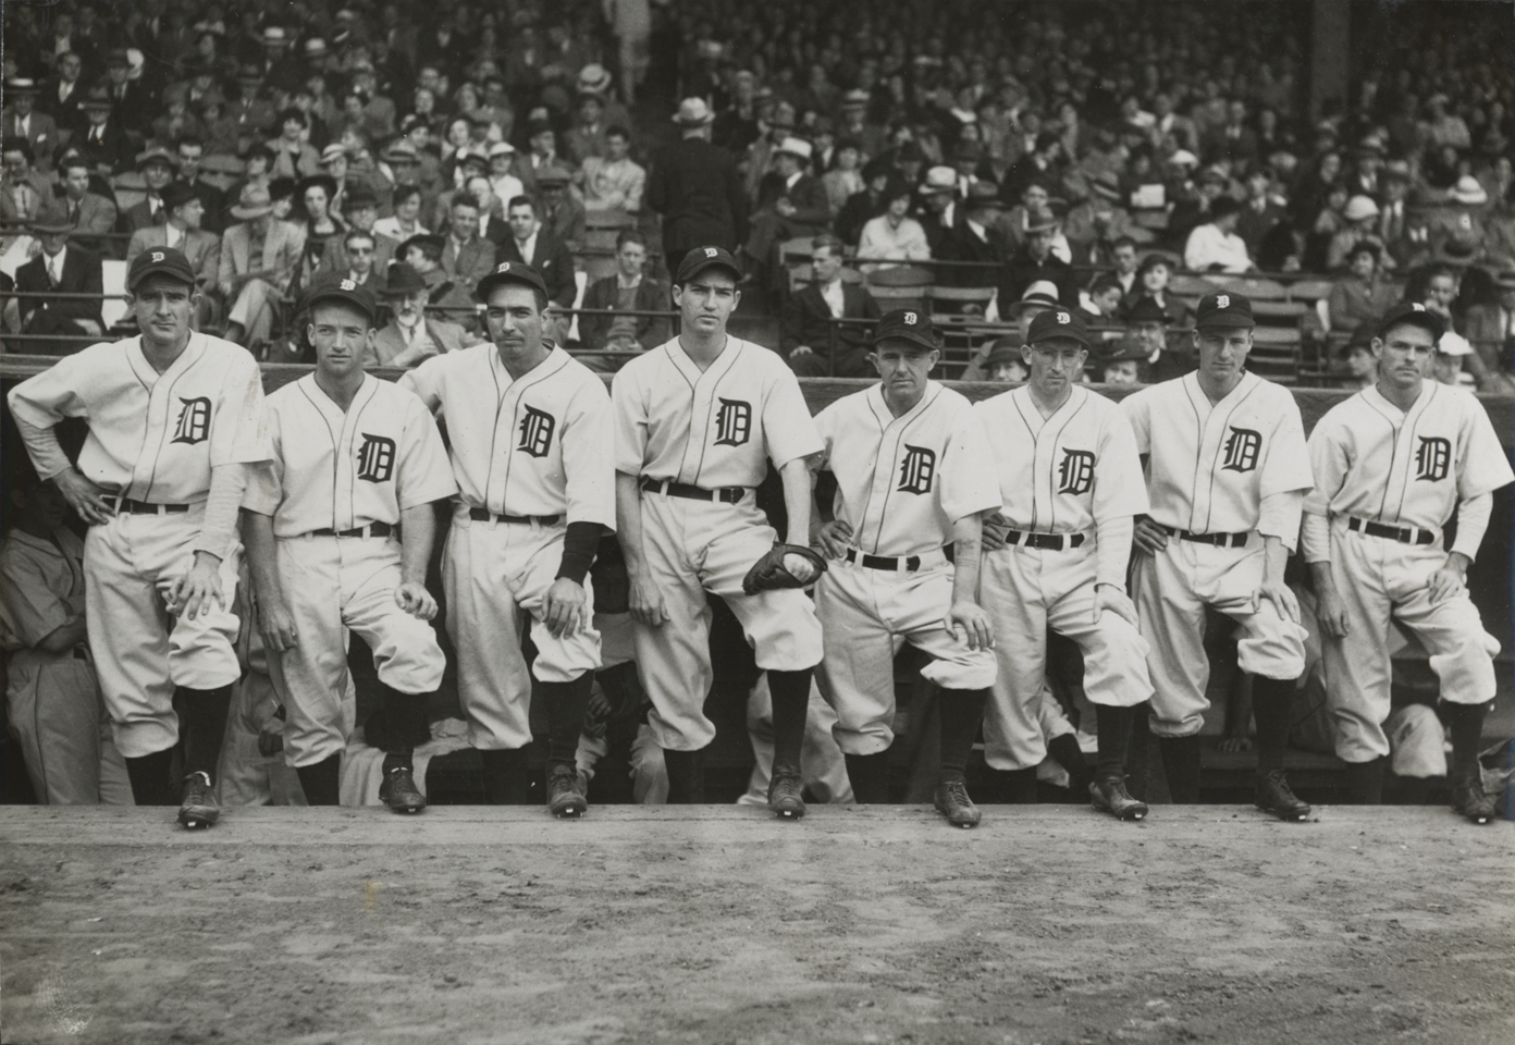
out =
[[[32,791],[44,806],[130,806],[88,650],[38,645],[83,612],[83,542],[67,529],[39,538],[14,527],[0,548],[0,645],[6,719]]]

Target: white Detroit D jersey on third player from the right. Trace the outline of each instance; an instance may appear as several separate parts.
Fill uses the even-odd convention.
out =
[[[1042,418],[1029,386],[974,406],[994,447],[985,462],[998,482],[1000,512],[1015,530],[1083,533],[1147,512],[1136,438],[1110,400],[1074,386]]]

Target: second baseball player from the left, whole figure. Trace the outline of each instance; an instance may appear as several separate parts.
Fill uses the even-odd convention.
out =
[[[379,800],[415,813],[411,748],[429,738],[426,697],[442,680],[426,565],[433,501],[458,492],[436,421],[406,389],[364,373],[373,294],[350,279],[305,295],[315,373],[268,397],[273,460],[242,507],[248,571],[268,674],[283,701],[285,762],[311,806],[339,804],[345,632],[374,654],[394,727]]]

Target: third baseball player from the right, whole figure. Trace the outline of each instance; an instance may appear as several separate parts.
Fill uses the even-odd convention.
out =
[[[1126,748],[1151,683],[1126,565],[1147,491],[1130,423],[1077,386],[1089,345],[1077,309],[1039,314],[1021,348],[1029,382],[974,407],[994,447],[985,460],[994,462],[1000,501],[985,536],[983,607],[998,638],[985,760],[1012,774],[1012,795],[1035,801],[1036,766],[1047,757],[1038,707],[1051,629],[1083,651],[1083,689],[1098,707],[1092,804],[1144,819],[1147,806],[1126,791]]]

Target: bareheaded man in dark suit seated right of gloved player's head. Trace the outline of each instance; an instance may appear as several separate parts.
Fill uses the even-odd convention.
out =
[[[830,233],[811,242],[811,271],[815,279],[783,309],[780,335],[789,368],[798,377],[868,377],[873,326],[836,324],[833,356],[832,320],[873,321],[880,317],[879,304],[862,286],[842,282],[842,241]]]

